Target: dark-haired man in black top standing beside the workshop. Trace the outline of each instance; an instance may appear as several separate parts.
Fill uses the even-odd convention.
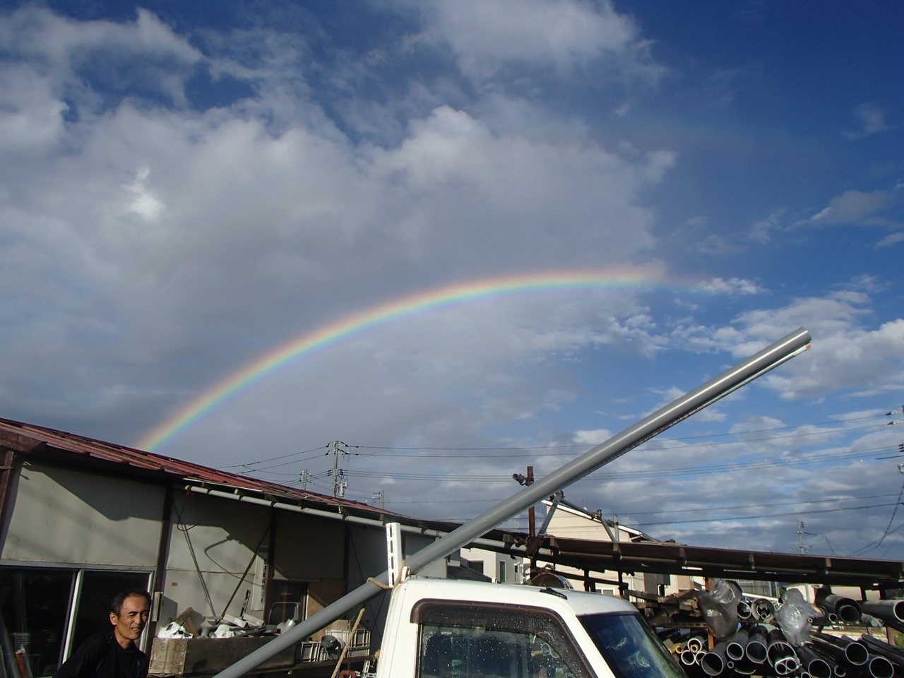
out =
[[[128,590],[110,604],[113,628],[89,636],[54,678],[146,678],[147,657],[135,641],[145,630],[151,594]]]

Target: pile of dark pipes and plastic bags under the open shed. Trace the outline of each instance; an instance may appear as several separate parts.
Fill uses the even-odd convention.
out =
[[[664,638],[691,676],[904,675],[904,648],[862,633],[864,626],[904,631],[904,600],[860,602],[820,589],[811,604],[799,590],[790,589],[774,602],[749,598],[727,580],[717,581],[712,591],[696,591],[695,596],[714,645],[705,631],[672,630]],[[845,633],[852,628],[859,637]]]

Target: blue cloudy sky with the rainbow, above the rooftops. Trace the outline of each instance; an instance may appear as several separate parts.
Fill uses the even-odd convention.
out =
[[[7,0],[0,417],[466,520],[803,326],[565,498],[904,560],[902,24]]]

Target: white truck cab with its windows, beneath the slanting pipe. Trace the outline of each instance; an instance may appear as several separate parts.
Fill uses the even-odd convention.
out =
[[[407,579],[378,678],[685,678],[626,600],[570,589]]]

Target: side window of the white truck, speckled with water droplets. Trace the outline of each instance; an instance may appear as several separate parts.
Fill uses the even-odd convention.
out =
[[[560,617],[541,607],[421,601],[420,678],[589,678]]]

